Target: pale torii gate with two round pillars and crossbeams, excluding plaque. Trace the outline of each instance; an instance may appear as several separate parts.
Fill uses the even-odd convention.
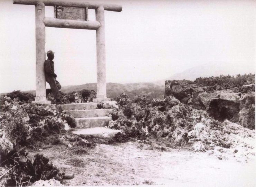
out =
[[[45,26],[57,28],[96,30],[97,47],[97,98],[94,102],[110,101],[106,96],[106,57],[104,11],[121,12],[122,6],[115,4],[89,3],[84,0],[13,0],[13,4],[35,5],[36,8],[36,99],[34,103],[50,104],[46,99]],[[95,9],[95,21],[61,20],[45,17],[45,6],[65,6]]]

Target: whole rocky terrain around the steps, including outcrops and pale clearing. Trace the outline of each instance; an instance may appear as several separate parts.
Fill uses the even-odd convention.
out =
[[[60,172],[74,173],[64,180],[66,186],[255,186],[254,85],[227,84],[222,90],[187,80],[165,83],[164,100],[115,98],[108,128],[121,133],[113,139],[73,135],[74,119],[56,105],[31,104],[34,98],[19,91],[3,96],[1,156],[2,149],[26,146]],[[63,98],[86,102],[94,97],[90,90],[77,93]],[[1,163],[0,175],[10,168]],[[52,178],[35,185],[61,185]]]

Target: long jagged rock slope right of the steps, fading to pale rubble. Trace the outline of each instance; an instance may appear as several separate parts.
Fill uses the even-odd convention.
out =
[[[118,108],[110,113],[109,127],[120,129],[119,137],[142,141],[157,138],[169,146],[188,147],[194,151],[216,154],[224,152],[242,157],[254,154],[254,131],[228,120],[220,123],[205,110],[194,109],[168,96],[164,100],[138,97],[131,101],[125,95],[117,99]],[[237,153],[239,152],[239,153]]]

